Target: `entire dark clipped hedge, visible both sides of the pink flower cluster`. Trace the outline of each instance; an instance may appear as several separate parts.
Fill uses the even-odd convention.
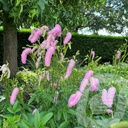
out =
[[[20,56],[22,52],[22,47],[26,44],[30,44],[28,37],[30,31],[20,31],[18,32],[18,64],[21,65]],[[71,57],[78,50],[80,52],[79,60],[83,60],[85,55],[89,54],[90,50],[94,50],[97,56],[101,56],[101,62],[111,62],[112,56],[119,47],[126,43],[128,37],[112,37],[112,36],[96,36],[96,35],[79,35],[74,34],[72,36],[72,49],[68,50],[67,56]],[[2,65],[3,60],[3,34],[0,31],[0,65]]]

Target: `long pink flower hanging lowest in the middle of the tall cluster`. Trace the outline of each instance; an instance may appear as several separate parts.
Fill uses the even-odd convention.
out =
[[[47,49],[47,52],[46,52],[46,55],[45,55],[45,66],[49,67],[50,66],[50,63],[51,63],[51,58],[52,58],[52,55],[55,51],[55,48],[50,46],[48,49]]]

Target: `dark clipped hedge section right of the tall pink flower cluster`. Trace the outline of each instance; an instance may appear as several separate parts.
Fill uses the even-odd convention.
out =
[[[79,50],[79,59],[83,60],[85,55],[91,50],[96,52],[96,56],[101,56],[101,62],[111,62],[113,55],[124,43],[128,43],[128,37],[78,35],[73,34],[72,49],[68,50],[68,56],[72,56]]]

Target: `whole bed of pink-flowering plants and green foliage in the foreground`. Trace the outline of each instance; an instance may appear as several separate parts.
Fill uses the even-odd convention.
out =
[[[65,57],[71,37],[59,24],[35,28],[16,76],[10,78],[8,63],[0,67],[0,127],[128,127],[127,45],[115,52],[113,64],[99,65],[90,50],[81,67],[79,52]]]

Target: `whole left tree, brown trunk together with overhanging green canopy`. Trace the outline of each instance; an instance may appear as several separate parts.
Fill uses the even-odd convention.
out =
[[[0,21],[4,28],[4,63],[8,61],[11,74],[17,72],[17,29],[21,27],[53,27],[59,23],[75,31],[87,24],[85,7],[102,4],[104,0],[0,0]]]

